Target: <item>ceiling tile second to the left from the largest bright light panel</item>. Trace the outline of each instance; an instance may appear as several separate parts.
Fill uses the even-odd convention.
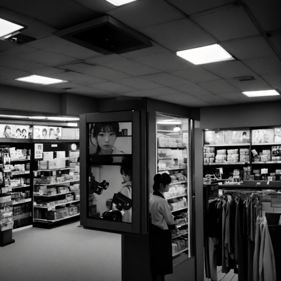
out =
[[[159,73],[158,69],[128,59],[107,63],[105,66],[114,69],[115,71],[127,73],[131,76]]]

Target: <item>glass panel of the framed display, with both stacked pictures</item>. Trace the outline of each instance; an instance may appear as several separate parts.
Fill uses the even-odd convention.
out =
[[[132,123],[89,124],[89,218],[132,223]]]

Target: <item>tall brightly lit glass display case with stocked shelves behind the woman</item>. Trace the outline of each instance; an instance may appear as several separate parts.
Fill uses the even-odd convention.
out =
[[[176,231],[172,232],[174,265],[191,257],[190,131],[189,119],[156,113],[156,173],[170,175],[172,182],[169,192],[164,193],[164,197],[169,203],[172,214],[177,218],[180,217]],[[180,240],[184,243],[179,243]]]

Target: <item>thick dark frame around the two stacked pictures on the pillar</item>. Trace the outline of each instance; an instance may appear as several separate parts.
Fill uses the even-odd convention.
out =
[[[121,223],[89,218],[88,211],[88,180],[90,155],[89,155],[89,124],[97,122],[132,122],[132,223]],[[109,231],[114,233],[141,233],[141,142],[140,142],[140,112],[120,111],[107,113],[89,113],[80,115],[80,223],[85,228]]]

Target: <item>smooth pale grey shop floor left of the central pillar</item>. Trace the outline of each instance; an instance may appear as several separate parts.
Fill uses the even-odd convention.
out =
[[[78,225],[13,232],[15,243],[0,248],[0,280],[121,280],[121,235]]]

